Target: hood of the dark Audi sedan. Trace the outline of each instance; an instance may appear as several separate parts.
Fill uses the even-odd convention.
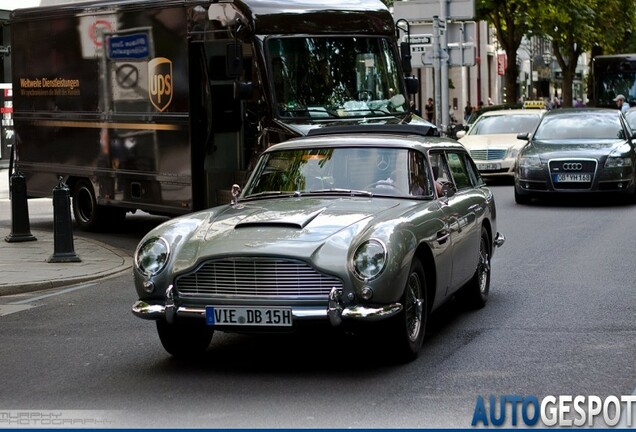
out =
[[[610,153],[620,152],[625,140],[573,140],[531,141],[523,149],[523,156],[539,156],[543,159],[587,157],[601,159]]]

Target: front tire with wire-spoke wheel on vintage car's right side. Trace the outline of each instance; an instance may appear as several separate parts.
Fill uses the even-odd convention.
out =
[[[402,294],[402,311],[389,323],[388,337],[399,361],[412,361],[422,348],[426,333],[428,301],[424,268],[413,259]]]

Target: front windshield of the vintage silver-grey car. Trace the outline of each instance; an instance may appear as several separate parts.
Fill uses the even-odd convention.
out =
[[[401,148],[280,150],[263,154],[243,198],[290,194],[431,196],[425,157]]]

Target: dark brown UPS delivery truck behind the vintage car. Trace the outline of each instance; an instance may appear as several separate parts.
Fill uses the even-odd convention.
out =
[[[15,169],[32,197],[62,177],[82,229],[229,202],[254,156],[313,128],[436,133],[379,0],[92,1],[10,25]]]

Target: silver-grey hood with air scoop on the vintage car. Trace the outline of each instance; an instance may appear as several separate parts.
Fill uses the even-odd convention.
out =
[[[402,207],[412,205],[399,199],[300,197],[216,207],[172,224],[172,233],[188,232],[187,237],[170,234],[173,240],[178,238],[173,242],[179,249],[174,268],[191,268],[213,255],[275,254],[309,259],[327,243],[330,250],[347,251],[374,220],[398,219]]]

